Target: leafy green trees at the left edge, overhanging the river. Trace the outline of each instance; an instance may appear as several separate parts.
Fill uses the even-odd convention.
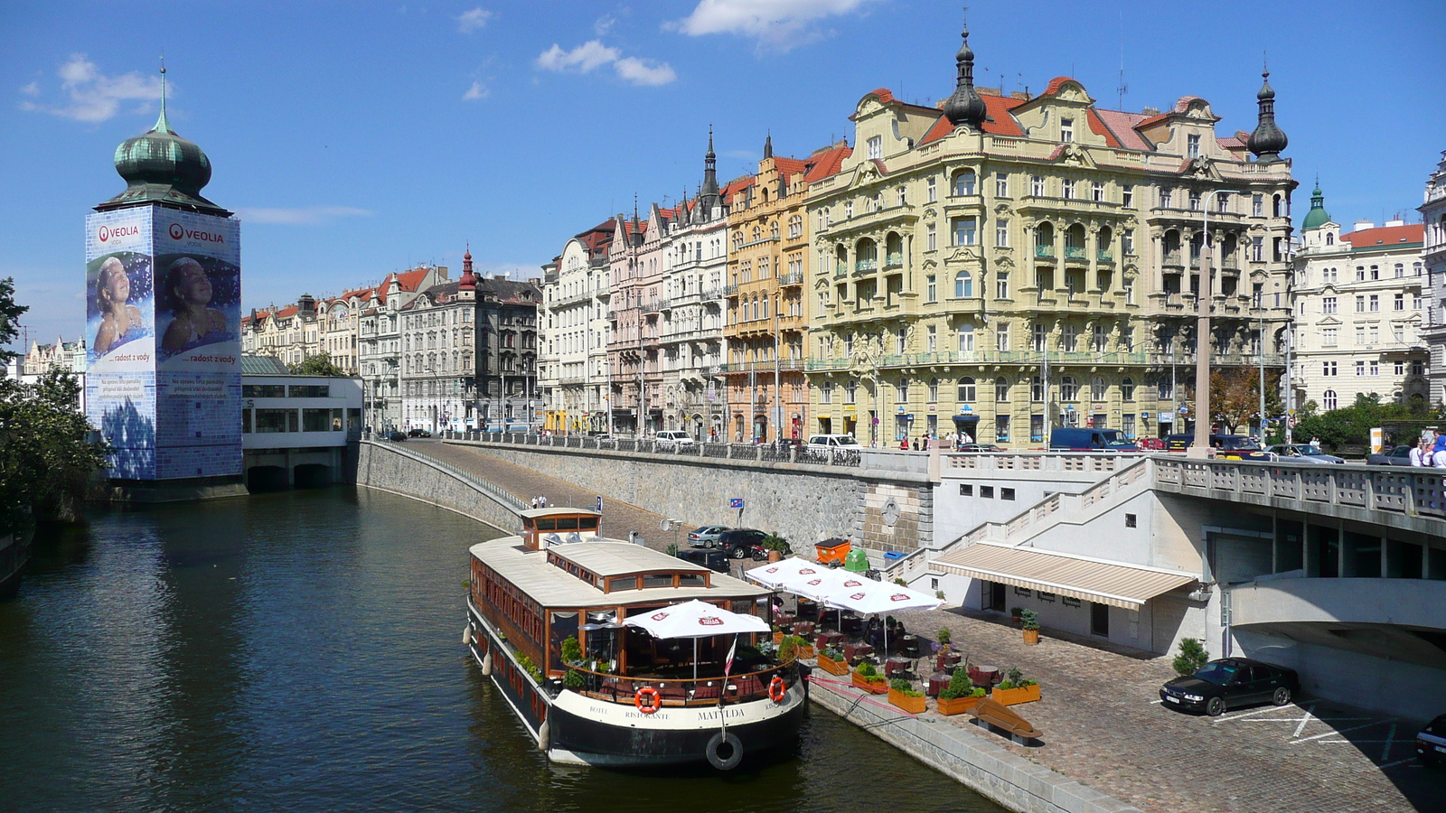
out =
[[[0,295],[0,330],[6,312]],[[0,532],[23,529],[32,518],[78,518],[107,453],[87,440],[91,425],[80,411],[80,392],[64,372],[33,385],[0,379]]]

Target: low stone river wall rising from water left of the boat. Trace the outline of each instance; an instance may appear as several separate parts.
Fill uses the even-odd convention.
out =
[[[499,495],[500,489],[399,448],[363,443],[356,477],[359,486],[429,502],[508,534],[518,532],[521,527],[521,503]]]

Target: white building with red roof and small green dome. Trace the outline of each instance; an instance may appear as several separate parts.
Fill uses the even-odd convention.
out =
[[[1427,402],[1421,226],[1359,221],[1342,234],[1317,185],[1301,221],[1291,286],[1291,408]]]

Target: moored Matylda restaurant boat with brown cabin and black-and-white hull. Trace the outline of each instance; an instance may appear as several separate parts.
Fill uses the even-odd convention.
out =
[[[542,508],[521,521],[521,535],[469,550],[466,638],[551,761],[732,770],[795,749],[807,683],[766,632],[684,639],[639,626],[697,600],[766,631],[768,589],[606,538],[596,511]]]

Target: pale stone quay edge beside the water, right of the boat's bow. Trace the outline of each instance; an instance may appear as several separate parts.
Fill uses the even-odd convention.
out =
[[[824,681],[810,683],[808,699],[1017,813],[1142,813],[1009,752],[991,742],[999,735],[983,729],[976,735],[943,720],[911,718],[860,702],[856,690]]]

